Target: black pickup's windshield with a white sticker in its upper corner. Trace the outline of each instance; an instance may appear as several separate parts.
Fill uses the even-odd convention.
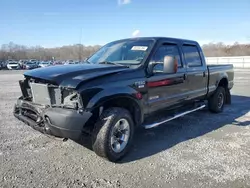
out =
[[[104,45],[87,61],[97,64],[112,62],[126,65],[140,64],[145,58],[153,40],[122,40]]]

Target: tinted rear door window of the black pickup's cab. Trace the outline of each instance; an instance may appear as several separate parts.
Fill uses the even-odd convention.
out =
[[[202,66],[201,57],[197,46],[195,45],[183,45],[184,58],[189,67]]]

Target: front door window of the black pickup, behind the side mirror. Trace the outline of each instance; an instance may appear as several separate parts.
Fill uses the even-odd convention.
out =
[[[163,73],[163,60],[167,55],[174,56],[178,61],[178,67],[182,67],[178,46],[176,44],[164,44],[156,50],[152,59],[152,61],[157,63],[154,66],[155,73]]]

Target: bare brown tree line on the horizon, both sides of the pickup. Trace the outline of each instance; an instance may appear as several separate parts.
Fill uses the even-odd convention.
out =
[[[7,59],[38,59],[38,60],[83,60],[97,51],[101,45],[85,46],[82,44],[68,45],[56,48],[44,48],[41,46],[27,47],[24,45],[3,44],[0,48],[0,60]],[[250,56],[250,44],[234,43],[209,43],[202,46],[205,56]]]

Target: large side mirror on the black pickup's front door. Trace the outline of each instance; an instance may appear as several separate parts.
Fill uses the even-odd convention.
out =
[[[165,56],[163,60],[163,72],[166,74],[174,74],[178,69],[178,61],[176,57]]]

